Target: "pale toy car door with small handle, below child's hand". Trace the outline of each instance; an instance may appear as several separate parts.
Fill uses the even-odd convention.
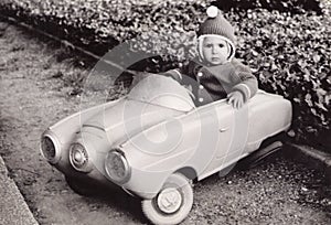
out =
[[[216,117],[214,124],[209,124],[209,141],[204,144],[206,152],[212,154],[200,179],[206,178],[229,164],[236,162],[244,153],[247,141],[248,108],[234,109],[226,100],[220,100],[209,106],[210,117]],[[211,113],[214,111],[214,113]],[[204,117],[205,120],[211,118]]]

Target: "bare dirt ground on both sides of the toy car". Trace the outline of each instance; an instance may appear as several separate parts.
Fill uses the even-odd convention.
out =
[[[79,196],[42,158],[43,130],[79,109],[61,74],[86,73],[57,62],[58,51],[0,23],[0,153],[11,176],[40,224],[147,224],[138,200],[121,192]],[[331,190],[324,174],[279,153],[197,183],[183,224],[331,224]]]

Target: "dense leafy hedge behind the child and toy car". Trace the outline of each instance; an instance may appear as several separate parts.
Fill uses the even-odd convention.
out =
[[[330,137],[328,1],[2,0],[0,13],[99,55],[140,36],[132,44],[135,51],[161,56],[135,65],[136,68],[146,68],[148,63],[151,71],[164,71],[194,56],[194,31],[211,3],[222,8],[236,28],[236,56],[252,67],[260,88],[292,101],[296,137],[301,141]],[[161,38],[154,40],[153,35]]]

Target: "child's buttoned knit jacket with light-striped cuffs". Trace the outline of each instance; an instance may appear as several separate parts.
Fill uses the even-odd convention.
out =
[[[235,90],[243,94],[246,103],[257,92],[256,77],[236,58],[216,66],[191,61],[188,66],[168,71],[164,75],[192,88],[196,106],[226,98],[227,94]]]

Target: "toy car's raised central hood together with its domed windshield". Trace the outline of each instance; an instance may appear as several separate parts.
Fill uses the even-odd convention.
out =
[[[111,146],[119,144],[153,125],[193,108],[185,88],[175,81],[150,75],[138,83],[127,97],[110,107],[104,107],[85,121],[82,131],[90,133],[93,128],[104,130]]]

